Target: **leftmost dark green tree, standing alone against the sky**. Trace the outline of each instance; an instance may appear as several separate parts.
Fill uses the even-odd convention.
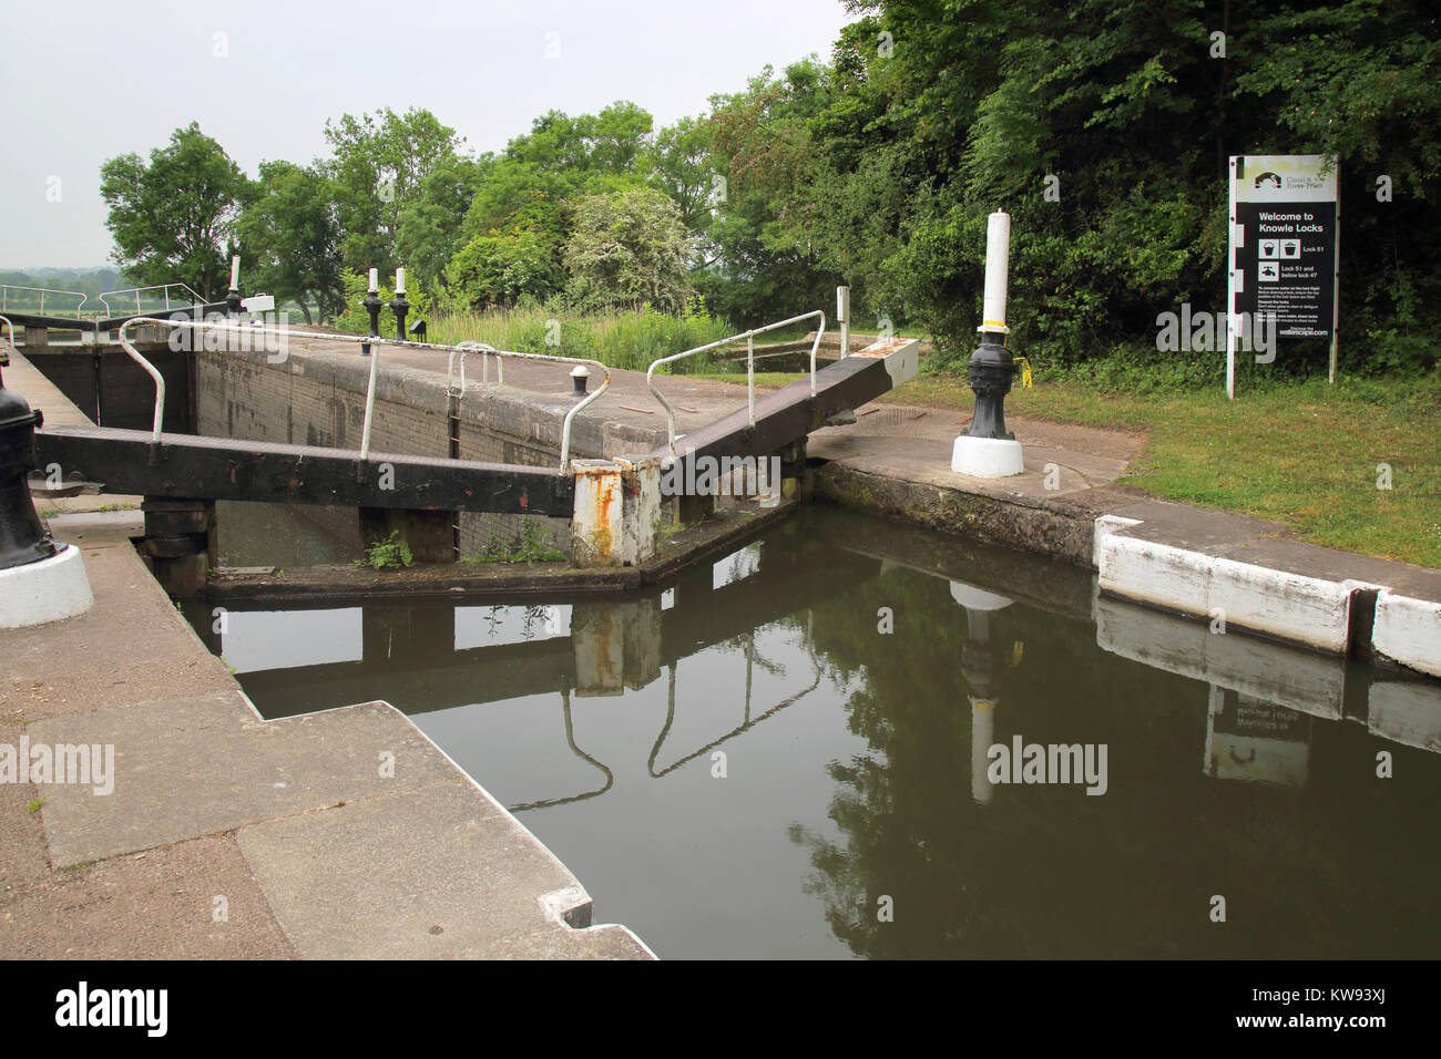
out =
[[[183,282],[206,301],[229,278],[226,256],[246,193],[245,174],[196,122],[177,128],[150,153],[121,154],[101,166],[105,226],[112,259],[143,285]]]

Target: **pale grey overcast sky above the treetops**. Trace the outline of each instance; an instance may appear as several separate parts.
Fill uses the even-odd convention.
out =
[[[190,121],[252,177],[382,107],[425,107],[478,151],[614,99],[659,128],[765,63],[829,59],[849,20],[840,0],[4,0],[0,268],[105,264],[101,163]]]

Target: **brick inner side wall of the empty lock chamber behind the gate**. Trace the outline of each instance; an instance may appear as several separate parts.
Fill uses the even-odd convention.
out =
[[[195,356],[197,434],[327,448],[360,447],[370,362],[359,353],[291,350],[280,363],[269,363],[264,350],[197,352]],[[383,359],[382,369],[370,451],[448,457],[444,376],[388,366]],[[471,385],[458,408],[458,457],[559,467],[561,424],[569,408],[569,401]],[[650,431],[578,418],[571,439],[575,457],[598,457],[607,444],[617,451],[659,442]],[[349,520],[353,513],[336,513],[336,517]],[[546,548],[569,549],[569,519],[463,511],[460,555],[478,555],[491,542],[513,546],[527,520],[543,526]]]

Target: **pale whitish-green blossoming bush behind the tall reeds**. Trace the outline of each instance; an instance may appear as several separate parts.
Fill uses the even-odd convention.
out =
[[[693,243],[680,210],[650,187],[592,195],[575,207],[565,245],[571,292],[585,305],[650,303],[680,311],[695,292]]]

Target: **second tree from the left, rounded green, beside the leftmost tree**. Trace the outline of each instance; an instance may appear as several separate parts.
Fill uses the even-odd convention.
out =
[[[236,222],[241,252],[251,262],[251,287],[294,300],[310,323],[310,301],[321,318],[340,311],[344,294],[340,225],[334,190],[314,169],[262,161],[261,179]]]

